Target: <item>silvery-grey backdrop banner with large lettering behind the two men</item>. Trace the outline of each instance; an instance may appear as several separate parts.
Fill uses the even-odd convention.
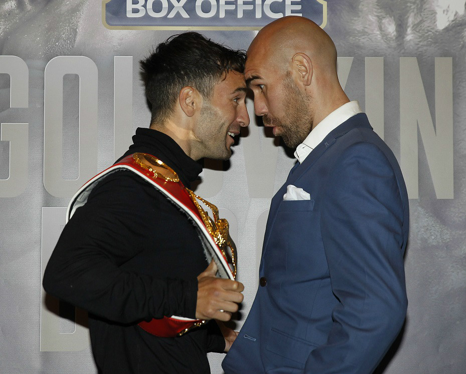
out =
[[[0,373],[95,373],[85,311],[42,276],[66,206],[150,112],[139,60],[195,30],[247,50],[286,15],[321,25],[339,79],[400,162],[410,197],[408,314],[384,373],[466,372],[466,0],[6,0],[0,4]],[[268,208],[294,163],[254,117],[196,193],[238,248],[244,322]],[[223,354],[210,353],[220,374]]]

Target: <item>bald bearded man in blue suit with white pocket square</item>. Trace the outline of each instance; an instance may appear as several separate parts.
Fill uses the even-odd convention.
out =
[[[273,197],[259,287],[230,373],[371,373],[407,299],[408,196],[399,165],[337,77],[315,23],[285,17],[247,52],[254,109],[296,165]]]

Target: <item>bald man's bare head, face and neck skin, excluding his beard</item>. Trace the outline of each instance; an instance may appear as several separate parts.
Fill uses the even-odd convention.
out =
[[[288,16],[268,24],[254,38],[246,56],[246,82],[254,92],[256,114],[265,119],[285,111],[289,117],[294,105],[287,100],[293,97],[303,103],[300,112],[305,107],[308,113],[302,121],[314,128],[349,102],[337,76],[335,44],[313,21]]]

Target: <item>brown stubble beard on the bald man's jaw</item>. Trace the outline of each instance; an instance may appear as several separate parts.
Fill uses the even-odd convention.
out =
[[[313,114],[309,109],[312,99],[305,97],[296,87],[289,75],[284,82],[283,115],[281,118],[265,114],[264,125],[280,127],[283,143],[289,148],[296,148],[309,135],[313,126]]]

